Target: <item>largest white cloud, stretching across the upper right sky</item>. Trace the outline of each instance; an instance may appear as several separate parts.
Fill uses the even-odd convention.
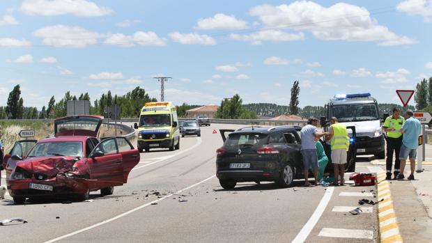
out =
[[[255,6],[249,13],[258,16],[266,28],[310,31],[320,40],[372,41],[383,46],[417,43],[379,25],[367,8],[348,3],[336,3],[328,8],[313,1],[279,6],[264,4]]]

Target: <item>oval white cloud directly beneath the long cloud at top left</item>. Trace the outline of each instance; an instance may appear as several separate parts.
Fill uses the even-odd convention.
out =
[[[33,35],[43,38],[43,45],[54,47],[86,47],[98,42],[103,37],[100,33],[88,31],[80,26],[54,25],[46,26],[33,32]]]

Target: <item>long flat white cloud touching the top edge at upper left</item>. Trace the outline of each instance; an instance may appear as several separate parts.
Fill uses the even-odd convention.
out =
[[[111,15],[113,10],[100,7],[92,1],[86,0],[26,0],[22,3],[22,12],[27,15],[76,15],[84,17],[96,17]]]

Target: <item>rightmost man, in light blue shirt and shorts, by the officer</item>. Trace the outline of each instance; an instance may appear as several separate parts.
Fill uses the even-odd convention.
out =
[[[405,170],[406,158],[410,157],[411,174],[408,176],[408,180],[414,180],[415,171],[415,157],[417,157],[417,147],[419,146],[419,135],[422,132],[422,123],[419,120],[412,117],[414,112],[407,110],[405,113],[405,123],[402,126],[402,146],[399,159],[401,159],[401,173],[397,176],[397,179],[403,180],[405,176],[403,171]]]

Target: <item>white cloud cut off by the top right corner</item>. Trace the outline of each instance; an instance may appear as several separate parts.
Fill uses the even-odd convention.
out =
[[[401,1],[396,9],[408,15],[421,15],[426,22],[432,21],[432,1],[431,0],[406,0]]]

